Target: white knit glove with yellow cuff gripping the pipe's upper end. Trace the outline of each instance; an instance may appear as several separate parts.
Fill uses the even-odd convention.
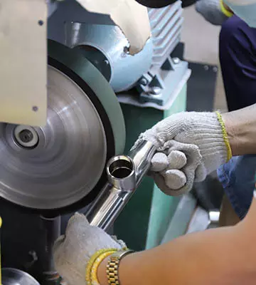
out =
[[[151,176],[168,195],[190,191],[194,181],[203,181],[232,156],[219,113],[171,115],[139,135],[134,147],[142,140],[157,147],[151,160]]]

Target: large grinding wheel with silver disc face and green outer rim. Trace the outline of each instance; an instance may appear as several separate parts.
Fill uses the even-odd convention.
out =
[[[105,184],[125,142],[122,110],[102,74],[78,51],[48,43],[48,120],[0,125],[0,196],[23,207],[83,207]]]

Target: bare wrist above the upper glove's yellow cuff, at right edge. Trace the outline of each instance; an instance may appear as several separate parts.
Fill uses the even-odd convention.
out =
[[[256,104],[223,114],[233,155],[256,154]]]

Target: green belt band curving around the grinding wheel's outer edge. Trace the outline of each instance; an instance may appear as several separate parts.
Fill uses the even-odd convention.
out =
[[[124,117],[117,96],[114,94],[110,84],[102,76],[100,71],[82,56],[82,53],[79,51],[72,50],[67,46],[49,40],[48,54],[58,62],[63,63],[64,66],[68,66],[71,71],[80,76],[94,91],[110,120],[114,135],[115,153],[123,153],[125,144]]]

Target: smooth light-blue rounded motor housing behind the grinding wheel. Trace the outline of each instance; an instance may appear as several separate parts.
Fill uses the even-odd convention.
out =
[[[98,18],[100,16],[102,15],[97,15]],[[107,58],[107,64],[111,68],[110,85],[115,92],[132,88],[151,66],[153,56],[151,39],[147,41],[141,52],[131,56],[127,52],[129,41],[118,26],[66,21],[65,35],[67,46],[71,48],[91,46],[97,48]]]

